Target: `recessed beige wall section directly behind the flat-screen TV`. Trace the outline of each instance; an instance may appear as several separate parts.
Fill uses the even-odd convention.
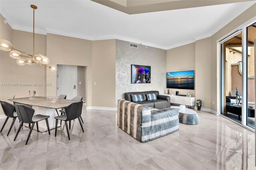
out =
[[[166,53],[166,72],[187,70],[195,70],[195,43],[190,43],[187,45],[182,45],[180,47],[168,49]],[[197,89],[196,85],[195,89]],[[191,96],[195,96],[195,90],[170,90],[172,90],[174,94],[175,91],[179,91],[182,95],[186,95],[190,91]]]

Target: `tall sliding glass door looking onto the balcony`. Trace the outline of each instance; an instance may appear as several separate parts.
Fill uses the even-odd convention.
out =
[[[251,128],[255,128],[255,39],[256,23],[220,42],[221,114]]]

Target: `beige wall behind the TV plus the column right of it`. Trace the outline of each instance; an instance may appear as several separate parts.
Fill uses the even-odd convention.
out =
[[[191,95],[202,100],[202,107],[211,108],[210,84],[210,44],[211,39],[205,38],[194,43],[167,50],[166,67],[170,71],[194,70],[195,90],[170,89],[174,92]]]

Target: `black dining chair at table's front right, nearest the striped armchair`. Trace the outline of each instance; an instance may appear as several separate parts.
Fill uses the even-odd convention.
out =
[[[68,121],[72,121],[75,119],[78,119],[80,126],[82,128],[82,131],[84,132],[83,125],[81,123],[80,117],[82,114],[82,107],[83,107],[83,101],[77,101],[74,102],[68,107],[65,108],[65,113],[64,115],[56,116],[54,119],[56,119],[55,122],[55,136],[57,135],[57,127],[58,127],[58,120],[65,121],[67,133],[68,133],[68,140],[70,140],[70,135],[69,135],[69,130],[68,130]]]

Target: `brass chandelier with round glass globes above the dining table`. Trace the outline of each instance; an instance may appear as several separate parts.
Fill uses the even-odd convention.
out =
[[[22,52],[18,49],[15,49],[12,46],[12,43],[8,42],[7,40],[0,40],[0,49],[3,51],[11,51],[10,56],[16,60],[16,63],[18,65],[32,65],[33,63],[44,65],[45,67],[48,67],[50,71],[55,72],[57,71],[56,65],[47,66],[50,62],[48,57],[42,55],[42,54],[35,54],[35,10],[37,9],[37,6],[30,5],[31,8],[33,8],[33,55],[30,55],[28,53]],[[26,58],[24,58],[26,57]]]

